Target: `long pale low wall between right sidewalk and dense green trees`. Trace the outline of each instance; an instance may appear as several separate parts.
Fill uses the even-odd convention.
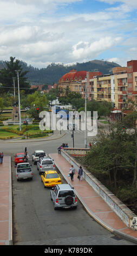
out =
[[[73,149],[75,150],[75,149]],[[82,149],[79,149],[82,150]],[[75,170],[79,170],[78,163],[70,154],[69,149],[61,149],[61,155],[70,163],[73,164]],[[76,155],[75,155],[76,156]],[[82,167],[83,168],[83,167]],[[109,205],[109,207],[118,215],[122,222],[132,230],[137,230],[136,215],[123,204],[112,192],[110,192],[102,183],[97,180],[86,168],[83,168],[83,178],[88,182],[94,191]]]

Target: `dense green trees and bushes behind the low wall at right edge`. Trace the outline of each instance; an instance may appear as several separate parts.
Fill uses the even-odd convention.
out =
[[[100,131],[97,143],[77,161],[128,207],[137,204],[137,112]],[[137,208],[136,208],[137,212]]]

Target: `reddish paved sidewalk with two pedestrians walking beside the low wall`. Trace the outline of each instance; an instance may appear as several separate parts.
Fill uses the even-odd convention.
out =
[[[68,177],[68,171],[71,167],[69,162],[64,159],[62,155],[50,154],[50,156],[54,159],[55,165],[67,182],[75,188],[77,197],[80,199],[88,214],[113,234],[137,243],[137,231],[129,229],[86,180],[83,179],[79,181],[79,179],[77,179],[77,172],[76,175],[74,175],[74,181],[71,182]],[[79,210],[79,206],[77,210]]]

